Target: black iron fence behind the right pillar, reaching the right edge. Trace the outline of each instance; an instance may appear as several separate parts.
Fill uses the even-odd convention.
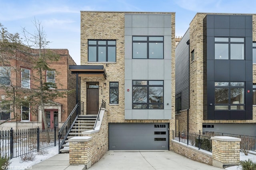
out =
[[[248,135],[237,135],[237,134],[230,134],[230,133],[220,133],[220,132],[212,132],[212,131],[199,131],[199,134],[206,135],[209,137],[213,136],[229,136],[229,137],[236,137],[240,138],[240,147],[246,148],[248,150],[255,150],[256,149],[256,137],[255,136],[248,136]]]

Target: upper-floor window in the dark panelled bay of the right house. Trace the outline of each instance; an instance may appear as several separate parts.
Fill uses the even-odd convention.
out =
[[[215,37],[215,59],[244,60],[244,38]]]

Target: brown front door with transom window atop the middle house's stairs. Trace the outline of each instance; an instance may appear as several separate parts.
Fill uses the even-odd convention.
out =
[[[86,84],[86,114],[98,114],[99,111],[99,82]]]

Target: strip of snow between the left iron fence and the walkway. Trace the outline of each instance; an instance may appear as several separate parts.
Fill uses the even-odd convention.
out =
[[[17,169],[17,170],[31,169],[31,166],[39,162],[42,162],[43,160],[46,160],[59,153],[58,146],[49,148],[47,149],[47,151],[48,153],[44,155],[40,155],[37,152],[33,152],[36,155],[36,157],[32,161],[22,162],[20,160],[20,157],[12,158],[10,161],[11,164],[9,166],[9,169]]]

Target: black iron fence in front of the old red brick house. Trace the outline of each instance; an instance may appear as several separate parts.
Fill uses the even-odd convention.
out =
[[[15,158],[56,146],[58,127],[0,131],[0,156]]]

